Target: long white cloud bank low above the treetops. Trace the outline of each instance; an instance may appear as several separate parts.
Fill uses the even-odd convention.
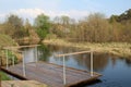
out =
[[[8,15],[8,14],[16,14],[20,17],[23,17],[24,20],[28,18],[28,20],[32,20],[32,22],[33,22],[34,18],[37,17],[37,15],[39,15],[41,13],[50,16],[51,18],[53,18],[55,16],[68,15],[75,20],[82,18],[90,14],[90,12],[87,12],[87,11],[79,11],[79,10],[45,11],[43,9],[19,9],[19,10],[11,11],[10,13],[0,14],[0,17],[5,17],[5,15]]]

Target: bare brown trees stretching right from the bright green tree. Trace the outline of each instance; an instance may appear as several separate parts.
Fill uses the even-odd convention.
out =
[[[100,13],[91,14],[79,22],[68,16],[56,17],[51,32],[71,41],[131,42],[131,9],[109,18]]]

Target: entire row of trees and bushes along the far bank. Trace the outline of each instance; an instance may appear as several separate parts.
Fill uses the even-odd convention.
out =
[[[0,24],[0,33],[14,39],[32,37],[31,30],[34,30],[40,40],[63,38],[70,41],[131,42],[131,9],[109,18],[104,14],[94,13],[79,21],[66,15],[50,20],[48,15],[40,14],[33,25],[28,20],[23,22],[17,15],[11,14]]]

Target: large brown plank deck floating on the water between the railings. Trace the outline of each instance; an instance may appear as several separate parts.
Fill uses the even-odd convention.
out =
[[[2,67],[2,71],[15,75],[20,78],[23,77],[23,79],[37,80],[51,87],[80,87],[80,85],[91,83],[92,80],[97,79],[99,76],[102,76],[98,73],[93,73],[93,76],[91,76],[90,72],[66,67],[67,84],[63,85],[62,70],[62,65],[46,62],[28,63],[25,65],[26,76],[24,77],[22,64],[10,66],[9,70]]]

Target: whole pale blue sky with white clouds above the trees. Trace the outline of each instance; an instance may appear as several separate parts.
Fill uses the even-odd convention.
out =
[[[51,18],[68,15],[80,20],[93,13],[119,15],[131,9],[131,0],[0,0],[0,22],[10,14],[34,21],[44,13]]]

